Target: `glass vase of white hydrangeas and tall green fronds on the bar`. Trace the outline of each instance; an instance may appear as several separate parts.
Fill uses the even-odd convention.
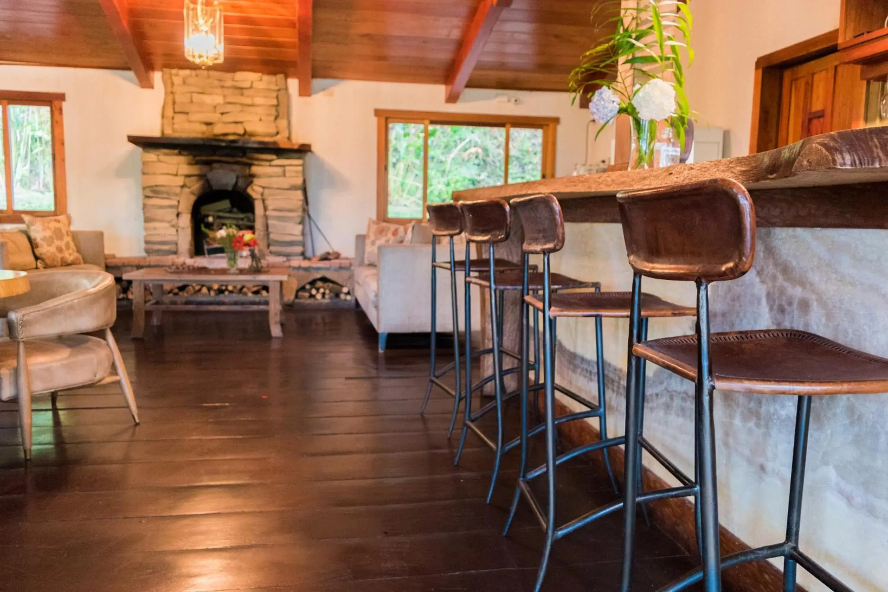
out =
[[[690,47],[694,19],[686,1],[638,0],[608,17],[614,4],[621,5],[597,4],[592,12],[597,29],[614,32],[583,54],[570,74],[570,90],[575,99],[589,94],[592,119],[601,124],[599,134],[617,115],[630,117],[630,169],[647,169],[654,163],[658,122],[667,122],[680,146],[685,146],[691,108],[684,62],[694,61]],[[591,86],[598,90],[589,92]]]

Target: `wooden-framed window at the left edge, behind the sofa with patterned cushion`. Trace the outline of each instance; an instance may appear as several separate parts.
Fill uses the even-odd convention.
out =
[[[66,211],[64,94],[0,91],[0,219]]]

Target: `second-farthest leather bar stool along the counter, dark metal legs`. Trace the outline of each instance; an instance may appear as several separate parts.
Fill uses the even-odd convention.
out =
[[[496,244],[506,241],[511,233],[511,209],[503,200],[468,201],[460,204],[463,213],[463,228],[467,243],[472,242],[487,246],[488,271],[481,272],[466,280],[467,283],[488,290],[490,301],[490,334],[492,335],[493,374],[472,385],[472,355],[470,343],[466,343],[465,351],[465,409],[463,433],[460,436],[459,448],[456,451],[455,463],[459,463],[463,452],[465,437],[469,430],[475,432],[481,440],[487,444],[496,454],[493,476],[490,479],[488,491],[488,503],[493,496],[496,487],[496,478],[499,473],[500,462],[506,447],[503,446],[503,403],[520,394],[520,390],[512,393],[505,392],[503,378],[505,375],[520,372],[522,366],[503,369],[503,354],[508,353],[512,358],[521,359],[520,356],[507,352],[503,348],[503,303],[506,291],[522,289],[525,279],[529,282],[529,290],[539,291],[543,289],[543,273],[530,272],[529,265],[525,261],[523,272],[495,272]],[[547,286],[552,289],[568,288],[598,288],[594,281],[583,281],[568,278],[560,274],[546,274]],[[471,311],[469,292],[466,292],[466,310]],[[472,335],[472,315],[465,315],[465,334]],[[525,352],[527,359],[527,352]],[[480,391],[486,384],[494,383],[494,401],[480,408],[477,413],[472,413],[472,393]],[[496,439],[488,436],[480,430],[476,422],[489,412],[496,410]],[[515,445],[517,446],[517,442]]]

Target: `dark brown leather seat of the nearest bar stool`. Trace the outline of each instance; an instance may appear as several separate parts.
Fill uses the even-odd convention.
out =
[[[635,355],[689,381],[697,377],[695,335],[638,343]],[[763,394],[836,395],[888,392],[888,359],[795,329],[710,335],[716,389]]]

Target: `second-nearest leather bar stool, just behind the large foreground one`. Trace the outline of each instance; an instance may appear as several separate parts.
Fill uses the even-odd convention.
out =
[[[527,498],[535,517],[543,526],[546,533],[545,546],[543,547],[543,557],[540,563],[540,569],[537,574],[536,590],[543,585],[546,574],[546,568],[551,554],[552,543],[557,539],[573,533],[583,525],[588,525],[599,517],[607,516],[614,511],[623,507],[622,501],[614,501],[607,506],[595,509],[582,517],[575,518],[565,525],[558,526],[555,524],[556,517],[556,470],[559,464],[570,459],[576,458],[581,454],[588,454],[595,451],[602,451],[605,458],[607,472],[616,490],[614,483],[614,475],[610,468],[610,460],[607,454],[607,448],[610,446],[621,446],[625,443],[624,437],[608,438],[607,436],[607,393],[605,389],[605,360],[604,360],[604,344],[602,336],[602,318],[629,318],[631,311],[632,298],[630,292],[602,292],[600,289],[595,291],[582,292],[564,292],[553,293],[553,289],[557,283],[551,279],[557,274],[550,271],[550,257],[552,253],[558,252],[564,247],[565,242],[565,226],[564,217],[558,200],[552,195],[533,195],[523,197],[511,201],[511,206],[518,212],[521,218],[521,225],[524,227],[524,243],[522,250],[524,251],[524,263],[527,264],[530,255],[543,255],[543,286],[542,293],[531,294],[531,282],[527,280],[528,273],[525,268],[525,282],[522,287],[524,296],[522,303],[522,324],[521,324],[521,351],[524,369],[521,372],[521,434],[519,437],[521,447],[521,464],[519,468],[519,480],[515,487],[515,496],[512,500],[511,511],[506,522],[505,532],[509,532],[512,518],[518,509],[518,504],[522,496]],[[527,381],[527,349],[528,340],[528,314],[530,310],[542,312],[543,314],[543,367],[544,367],[544,405],[545,405],[545,422],[530,429],[527,422],[527,406],[529,385]],[[650,294],[642,295],[640,314],[644,319],[642,324],[643,330],[647,330],[647,319],[649,318],[674,318],[674,317],[691,317],[694,316],[695,310],[691,307],[679,306],[662,300],[658,296]],[[598,402],[593,403],[576,393],[567,390],[555,382],[555,348],[557,346],[557,334],[555,325],[560,318],[588,318],[595,320],[595,343],[596,358],[598,366]],[[643,374],[642,374],[643,375]],[[555,391],[559,391],[570,399],[574,399],[580,403],[585,409],[583,411],[555,417]],[[601,439],[591,445],[581,446],[574,450],[567,451],[563,454],[556,455],[558,426],[576,420],[586,420],[590,418],[598,418],[599,431]],[[527,445],[528,439],[540,432],[545,433],[546,442],[546,462],[543,466],[535,470],[527,470]],[[640,438],[640,427],[638,430]],[[628,433],[628,432],[627,432]],[[669,462],[658,450],[647,444],[651,454],[663,463],[664,467],[679,479],[690,482],[681,474],[671,462]],[[640,450],[636,452],[640,458]],[[532,493],[528,482],[536,477],[545,474],[548,479],[549,500],[548,508],[543,511],[542,506],[536,500]],[[640,480],[640,474],[638,476]],[[686,488],[679,492],[681,495],[690,495],[692,490]],[[662,493],[654,492],[652,495],[662,495]],[[678,493],[677,493],[678,494]],[[670,495],[671,497],[671,495]],[[630,504],[631,508],[635,507],[635,502]],[[631,512],[634,515],[634,511]]]

